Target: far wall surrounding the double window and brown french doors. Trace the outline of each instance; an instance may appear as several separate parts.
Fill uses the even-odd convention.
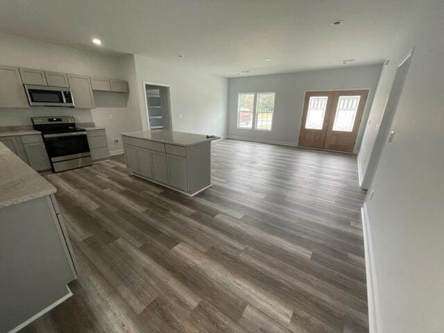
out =
[[[311,90],[370,89],[357,137],[358,151],[382,65],[323,69],[288,74],[230,78],[228,135],[237,139],[296,145],[305,92]],[[241,92],[276,92],[271,132],[237,128],[237,99]]]

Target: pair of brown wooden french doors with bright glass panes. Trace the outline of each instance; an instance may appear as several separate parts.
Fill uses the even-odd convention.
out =
[[[352,153],[368,90],[307,92],[299,146]]]

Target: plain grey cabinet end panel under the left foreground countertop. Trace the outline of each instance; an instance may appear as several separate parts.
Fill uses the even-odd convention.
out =
[[[46,197],[0,209],[0,332],[69,293],[73,280]]]

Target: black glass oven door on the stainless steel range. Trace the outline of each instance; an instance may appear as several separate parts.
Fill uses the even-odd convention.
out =
[[[91,156],[86,132],[44,134],[43,139],[51,162]]]

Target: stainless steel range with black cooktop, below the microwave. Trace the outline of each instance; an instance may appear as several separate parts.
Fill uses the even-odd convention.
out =
[[[92,165],[86,130],[76,127],[74,117],[32,117],[42,132],[53,172]]]

